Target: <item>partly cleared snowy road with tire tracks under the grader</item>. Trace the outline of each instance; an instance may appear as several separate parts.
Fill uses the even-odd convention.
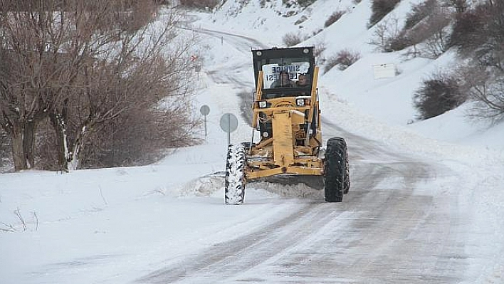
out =
[[[204,30],[236,46],[247,58],[255,40]],[[248,61],[207,66],[216,84],[235,94],[249,89]],[[229,73],[229,70],[237,72]],[[246,88],[245,88],[246,89]],[[251,89],[253,90],[253,89]],[[231,94],[225,94],[229,96]],[[224,95],[223,95],[224,97]],[[247,97],[248,98],[248,97]],[[221,98],[216,98],[221,100]],[[238,104],[242,102],[238,100]],[[223,102],[221,102],[223,103]],[[284,196],[304,196],[283,218],[231,241],[156,270],[140,283],[461,283],[471,258],[468,226],[458,196],[433,195],[432,186],[453,184],[453,172],[434,159],[398,152],[339,127],[325,116],[325,140],[347,139],[352,186],[341,204],[322,191],[250,184]],[[247,115],[245,115],[246,117]],[[292,202],[287,199],[285,202]],[[247,201],[246,201],[247,202]],[[283,202],[281,199],[278,202]],[[246,204],[244,205],[246,206]],[[467,283],[471,283],[468,280]]]

